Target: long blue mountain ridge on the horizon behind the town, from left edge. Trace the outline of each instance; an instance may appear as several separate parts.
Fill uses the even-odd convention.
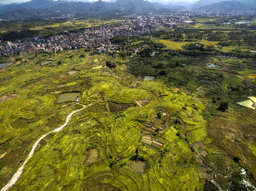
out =
[[[78,15],[96,14],[112,11],[128,12],[151,12],[161,10],[170,12],[171,7],[160,3],[150,3],[143,0],[117,0],[116,2],[107,3],[99,0],[94,3],[87,3],[87,0],[53,1],[53,0],[32,0],[21,4],[10,4],[0,6],[0,19],[38,19],[47,18],[53,15],[73,13]],[[114,0],[112,0],[114,1]]]

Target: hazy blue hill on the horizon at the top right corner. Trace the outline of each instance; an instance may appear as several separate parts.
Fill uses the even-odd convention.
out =
[[[221,11],[253,11],[255,7],[236,1],[224,1],[197,8],[197,10],[221,10]]]

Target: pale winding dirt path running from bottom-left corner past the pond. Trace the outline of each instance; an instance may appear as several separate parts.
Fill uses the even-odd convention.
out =
[[[95,95],[95,94],[94,94],[94,95]],[[91,95],[90,97],[92,97],[92,96],[93,96],[93,95]],[[88,97],[88,98],[89,98],[89,97]],[[83,106],[82,109],[78,109],[78,110],[72,111],[71,114],[69,114],[69,115],[67,116],[67,119],[66,119],[66,121],[65,121],[65,123],[64,123],[63,125],[61,125],[60,127],[54,129],[54,130],[51,131],[51,132],[46,133],[45,135],[42,135],[42,136],[35,142],[35,144],[32,146],[32,150],[30,151],[30,153],[29,153],[28,158],[26,159],[26,161],[24,161],[24,163],[22,164],[22,166],[21,166],[21,167],[16,171],[16,173],[13,175],[13,177],[11,178],[11,180],[9,181],[9,183],[6,184],[6,185],[1,189],[1,191],[7,191],[7,190],[9,190],[9,188],[10,188],[11,186],[13,186],[13,185],[16,183],[16,181],[17,181],[17,180],[19,179],[19,177],[21,176],[22,171],[23,171],[23,169],[24,169],[26,163],[28,162],[28,160],[29,160],[29,159],[32,157],[32,155],[34,154],[34,151],[35,151],[35,149],[36,149],[36,146],[38,145],[38,143],[39,143],[41,140],[43,140],[44,137],[46,137],[46,136],[47,136],[48,134],[50,134],[50,133],[61,131],[65,126],[68,125],[69,120],[71,119],[71,117],[72,117],[73,114],[75,114],[75,113],[78,112],[78,111],[81,111],[81,110],[85,109],[86,107],[91,106],[92,104],[93,104],[93,103],[89,103],[88,105],[85,106],[85,105],[82,105],[81,103],[77,103],[76,105],[81,105],[81,106]]]

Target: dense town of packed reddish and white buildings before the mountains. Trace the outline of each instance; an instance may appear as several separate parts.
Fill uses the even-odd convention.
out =
[[[0,47],[0,55],[12,55],[15,53],[36,53],[38,51],[54,51],[63,49],[90,48],[101,52],[109,52],[110,50],[120,50],[120,47],[112,46],[110,39],[119,36],[136,36],[151,29],[157,30],[160,27],[160,22],[164,27],[177,28],[177,22],[188,21],[188,16],[169,16],[155,18],[137,16],[136,20],[127,20],[120,22],[119,26],[97,26],[86,29],[84,32],[72,33],[64,31],[62,34],[57,34],[51,37],[35,37],[31,40],[21,42],[2,41]],[[135,51],[135,50],[134,50]]]

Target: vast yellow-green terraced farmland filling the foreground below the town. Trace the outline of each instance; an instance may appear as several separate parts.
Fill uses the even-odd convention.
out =
[[[85,56],[81,58],[81,54]],[[21,58],[21,62],[0,70],[1,187],[38,137],[64,124],[65,117],[78,109],[74,101],[57,102],[60,94],[71,92],[79,92],[79,102],[91,103],[90,107],[74,114],[63,131],[44,137],[10,190],[202,190],[204,179],[212,179],[214,173],[225,175],[219,161],[228,161],[230,168],[238,165],[233,159],[241,156],[225,146],[242,144],[244,134],[233,128],[237,124],[245,128],[240,120],[249,123],[246,118],[253,118],[253,110],[230,100],[227,111],[217,108],[234,92],[246,93],[239,89],[240,84],[244,88],[253,85],[249,77],[241,78],[252,69],[233,71],[235,65],[243,66],[243,59],[219,70],[205,66],[232,63],[231,59],[178,55],[170,62],[160,60],[163,68],[158,68],[148,64],[151,58],[135,54],[135,58],[89,54],[80,49],[30,59],[14,55],[13,61]],[[42,65],[46,60],[51,62]],[[106,67],[107,60],[114,60],[117,67]],[[151,64],[158,62],[152,60]],[[176,67],[169,67],[176,62]],[[181,65],[183,62],[187,65]],[[77,72],[69,73],[71,70]],[[155,78],[143,81],[145,75]],[[201,83],[200,79],[215,83]],[[245,97],[236,96],[234,100]],[[246,116],[238,120],[242,111]],[[253,135],[249,127],[253,124],[246,127]],[[238,145],[236,153],[244,152],[249,160],[241,163],[253,176],[255,166],[250,161],[255,159],[255,144],[251,136],[247,138],[250,146]],[[224,140],[227,142],[219,145]],[[199,165],[194,144],[201,141],[208,154],[199,156],[203,162]],[[137,173],[131,166],[138,160],[146,162],[145,173]]]

